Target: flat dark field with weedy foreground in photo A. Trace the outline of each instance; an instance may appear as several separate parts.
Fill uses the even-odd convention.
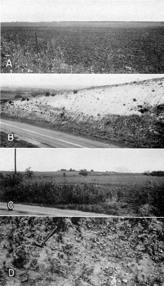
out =
[[[4,23],[1,26],[1,72],[164,72],[163,23],[92,25],[10,27]],[[12,68],[6,68],[6,54],[10,55]]]

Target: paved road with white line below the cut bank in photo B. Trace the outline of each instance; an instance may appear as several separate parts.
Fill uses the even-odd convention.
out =
[[[4,119],[1,119],[1,131],[14,133],[15,136],[23,136],[25,139],[35,140],[56,148],[117,148],[117,146],[92,141],[83,137]]]

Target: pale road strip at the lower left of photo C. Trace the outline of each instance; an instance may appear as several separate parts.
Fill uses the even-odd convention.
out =
[[[1,216],[108,216],[103,213],[87,213],[78,210],[61,210],[54,207],[39,207],[27,204],[14,204],[8,210],[7,203],[0,203]]]

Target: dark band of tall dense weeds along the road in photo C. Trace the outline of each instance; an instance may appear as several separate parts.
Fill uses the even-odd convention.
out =
[[[70,185],[52,182],[20,183],[1,189],[1,199],[36,204],[96,204],[109,196],[106,188],[91,184]]]

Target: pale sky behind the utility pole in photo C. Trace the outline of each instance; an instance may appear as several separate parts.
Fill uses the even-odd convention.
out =
[[[17,170],[164,171],[164,149],[17,149]],[[1,171],[14,169],[14,148],[1,148]]]

